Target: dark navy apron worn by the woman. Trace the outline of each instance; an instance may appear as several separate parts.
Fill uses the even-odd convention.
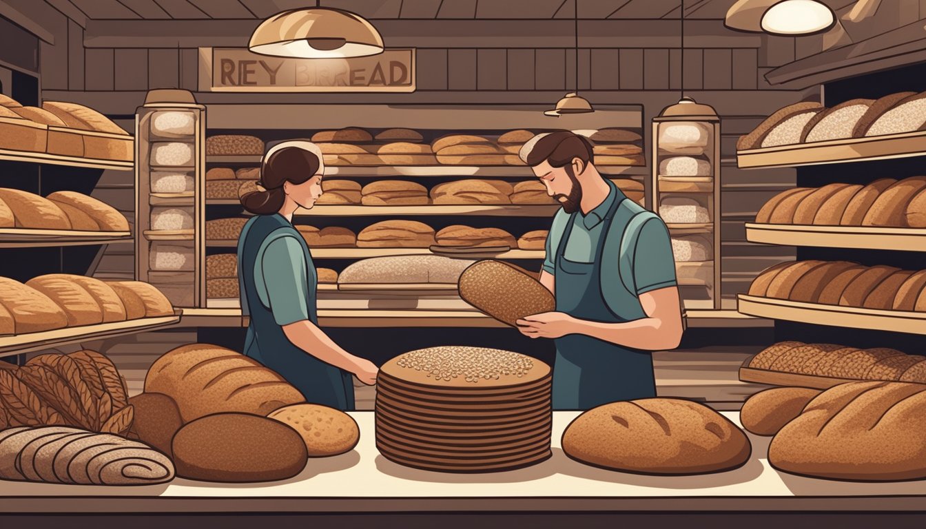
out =
[[[253,271],[258,250],[271,233],[278,235],[281,230],[292,232],[302,246],[308,271],[308,319],[316,325],[319,324],[316,303],[318,274],[305,239],[282,216],[261,215],[245,226],[242,233],[243,244],[239,246],[239,283],[242,286],[246,310],[251,317],[244,339],[244,354],[280,373],[287,382],[302,392],[307,402],[335,409],[354,409],[354,384],[351,374],[294,346],[286,334],[283,334],[282,327],[273,320],[273,312],[261,303],[260,296],[257,295]]]

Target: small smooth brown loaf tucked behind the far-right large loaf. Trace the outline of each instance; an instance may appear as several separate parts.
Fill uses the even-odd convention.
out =
[[[747,432],[775,435],[818,395],[819,389],[807,387],[773,387],[760,391],[743,404],[740,422]]]

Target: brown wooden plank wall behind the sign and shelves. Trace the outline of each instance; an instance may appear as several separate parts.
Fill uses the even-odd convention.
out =
[[[416,26],[429,23],[415,20]],[[57,40],[55,45],[43,45],[45,98],[94,107],[131,130],[131,116],[144,102],[145,91],[149,88],[197,90],[198,56],[194,48],[83,48],[80,25],[67,19],[58,20],[56,24],[67,38]],[[427,34],[427,31],[417,27],[410,34]],[[499,35],[493,37],[487,42],[497,46]],[[383,38],[389,43],[396,35],[384,31]],[[398,35],[403,43],[410,38]],[[629,47],[633,40],[626,36],[614,38],[619,39],[620,47],[618,44],[605,47],[608,37],[599,36],[592,45],[601,47],[583,48],[578,54],[571,48],[525,48],[514,35],[508,37],[510,47],[420,47],[418,91],[414,94],[197,93],[196,97],[206,105],[266,101],[552,105],[564,91],[574,88],[573,71],[578,66],[578,88],[593,104],[643,104],[647,125],[644,131],[648,135],[648,123],[663,107],[678,100],[683,82],[686,94],[713,105],[722,118],[723,295],[732,297],[745,292],[758,271],[794,257],[793,248],[746,243],[743,223],[753,217],[771,195],[794,185],[795,171],[738,170],[735,143],[739,135],[751,131],[778,108],[818,96],[815,90],[772,87],[763,77],[770,69],[795,60],[801,47],[794,38],[762,37],[744,41],[742,37],[718,36],[714,43],[702,36],[696,41],[700,47],[686,49],[682,60],[682,51],[678,48]],[[243,36],[242,42],[244,40]],[[470,39],[465,44],[471,42]],[[639,42],[647,44],[654,40]],[[737,47],[725,47],[725,42]],[[756,44],[744,47],[748,43]],[[424,44],[434,46],[435,41],[430,38]],[[345,116],[345,123],[348,121],[349,117]],[[246,127],[246,123],[242,125]],[[551,119],[551,126],[555,125]],[[107,174],[97,194],[106,196],[117,208],[131,214],[131,173]],[[117,275],[131,272],[131,258],[125,252],[125,247],[109,248],[100,272]]]

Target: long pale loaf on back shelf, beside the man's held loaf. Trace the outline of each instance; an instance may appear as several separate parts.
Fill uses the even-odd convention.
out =
[[[337,282],[364,283],[453,283],[473,264],[469,259],[443,256],[392,256],[361,259],[348,265]],[[319,282],[321,273],[319,269]]]

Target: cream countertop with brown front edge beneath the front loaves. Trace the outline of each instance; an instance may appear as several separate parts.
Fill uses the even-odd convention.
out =
[[[723,412],[739,424],[738,412]],[[646,476],[610,472],[570,460],[560,448],[563,430],[579,412],[557,411],[553,457],[532,467],[482,474],[411,469],[377,451],[373,412],[351,412],[360,442],[344,455],[310,459],[293,479],[269,484],[211,484],[175,479],[128,487],[45,485],[0,481],[0,512],[35,510],[144,510],[173,500],[176,510],[206,504],[220,510],[455,510],[455,509],[913,509],[926,506],[926,481],[846,483],[778,472],[768,460],[770,437],[749,435],[752,457],[731,472]],[[51,498],[55,498],[54,501]],[[124,498],[125,501],[119,501]],[[246,499],[245,499],[246,498]],[[797,501],[812,499],[813,501]],[[96,501],[99,500],[99,501]],[[732,500],[736,500],[734,503]],[[745,501],[748,500],[748,501]],[[152,502],[156,501],[156,504]],[[785,502],[787,501],[787,502]],[[402,507],[404,506],[404,507]],[[555,507],[554,507],[555,506]]]

